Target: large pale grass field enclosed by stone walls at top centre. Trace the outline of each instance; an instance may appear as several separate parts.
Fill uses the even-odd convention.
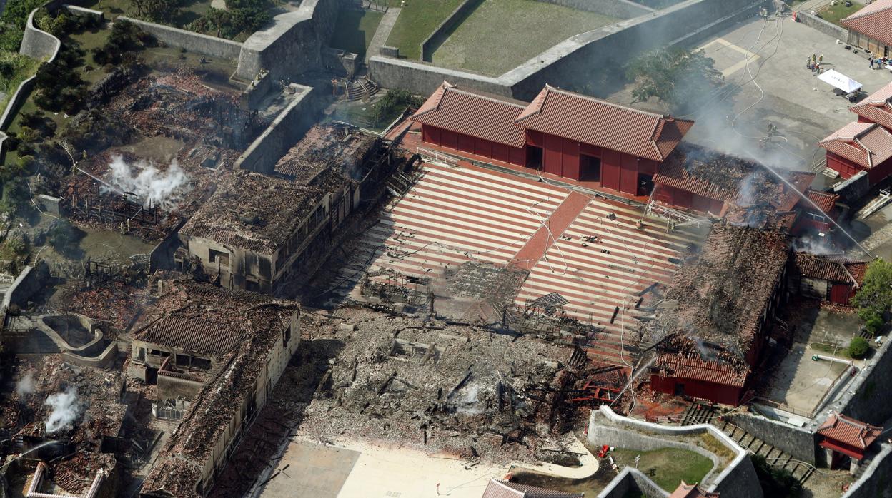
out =
[[[499,76],[568,37],[615,20],[535,0],[486,0],[434,50],[434,63]]]

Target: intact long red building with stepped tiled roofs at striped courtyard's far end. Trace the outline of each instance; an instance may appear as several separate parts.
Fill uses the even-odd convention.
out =
[[[443,82],[412,115],[424,143],[647,196],[694,122],[545,86],[521,102]]]

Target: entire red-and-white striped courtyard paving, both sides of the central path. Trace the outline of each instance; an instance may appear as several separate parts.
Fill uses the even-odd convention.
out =
[[[447,265],[457,268],[468,261],[508,265],[527,242],[541,243],[533,234],[543,224],[551,230],[566,226],[563,233],[552,233],[550,247],[533,249],[533,255],[544,252],[544,257],[524,265],[532,270],[516,304],[523,307],[528,299],[559,292],[570,301],[565,306],[568,314],[604,328],[592,338],[591,354],[617,361],[610,356],[618,353],[621,342],[637,343],[632,315],[639,312],[632,295],[654,282],[669,282],[676,265],[668,258],[680,257],[685,245],[698,238],[667,234],[657,220],[646,219],[644,228],[638,229],[640,210],[599,198],[579,202],[579,194],[562,207],[556,216],[560,220],[549,223],[569,193],[563,187],[480,167],[425,164],[424,176],[392,210],[384,210],[341,273],[352,282],[364,272],[382,270],[436,279]],[[610,213],[614,220],[607,218]],[[583,236],[598,236],[599,242],[585,242],[583,247]],[[530,253],[528,247],[524,257]],[[343,295],[351,292],[346,287]],[[356,296],[357,290],[352,291]],[[615,306],[621,312],[610,323]]]

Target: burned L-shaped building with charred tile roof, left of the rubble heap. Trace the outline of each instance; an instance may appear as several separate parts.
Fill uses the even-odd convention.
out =
[[[200,496],[266,404],[300,344],[297,303],[162,280],[140,320],[128,374],[157,383],[153,412],[180,420],[141,496]]]

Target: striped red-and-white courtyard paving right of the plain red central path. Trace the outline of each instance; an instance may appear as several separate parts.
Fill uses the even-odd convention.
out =
[[[616,216],[613,220],[608,217],[611,213]],[[653,218],[645,218],[644,226],[636,228],[639,219],[637,208],[590,200],[533,267],[516,304],[560,293],[570,301],[564,306],[567,314],[604,329],[591,338],[590,355],[617,355],[618,359],[621,345],[638,343],[634,316],[640,311],[635,309],[638,297],[634,294],[655,282],[668,283],[677,268],[669,257],[681,258],[688,243],[702,241],[696,234],[665,233],[665,222]],[[599,241],[582,241],[591,236]],[[611,323],[616,306],[620,311]]]

